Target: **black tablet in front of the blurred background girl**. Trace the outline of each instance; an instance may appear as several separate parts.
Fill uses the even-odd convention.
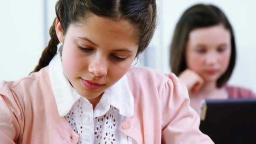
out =
[[[256,99],[204,100],[200,130],[215,144],[256,144]]]

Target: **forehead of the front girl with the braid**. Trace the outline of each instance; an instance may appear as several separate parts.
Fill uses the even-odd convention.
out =
[[[71,25],[69,31],[70,35],[86,37],[97,45],[138,46],[138,30],[128,20],[115,21],[92,14],[84,22]]]

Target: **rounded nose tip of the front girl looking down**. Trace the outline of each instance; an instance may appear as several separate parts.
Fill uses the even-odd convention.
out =
[[[108,69],[104,62],[92,62],[89,65],[89,72],[95,76],[104,76],[107,75]]]

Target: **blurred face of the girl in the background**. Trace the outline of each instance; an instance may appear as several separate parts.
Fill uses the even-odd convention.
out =
[[[217,82],[230,62],[230,31],[223,25],[194,29],[186,47],[188,69],[199,74],[205,82]]]

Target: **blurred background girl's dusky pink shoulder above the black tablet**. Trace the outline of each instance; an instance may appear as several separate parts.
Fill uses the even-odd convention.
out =
[[[256,98],[256,94],[248,88],[226,85],[229,98]]]

